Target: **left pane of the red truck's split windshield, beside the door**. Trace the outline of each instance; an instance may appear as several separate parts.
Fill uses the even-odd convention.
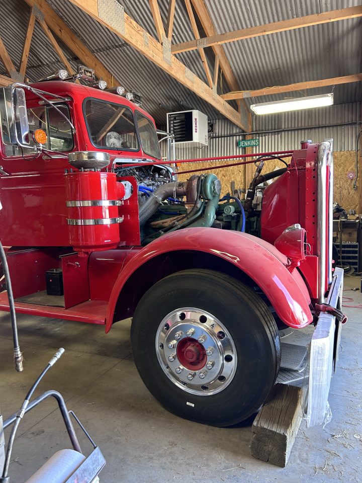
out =
[[[133,114],[128,107],[88,99],[84,115],[95,146],[118,151],[139,149]]]

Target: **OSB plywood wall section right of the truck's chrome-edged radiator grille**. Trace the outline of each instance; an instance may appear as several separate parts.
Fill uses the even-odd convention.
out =
[[[348,179],[349,171],[355,172],[355,151],[339,151],[333,154],[334,166],[334,201],[345,210],[355,210],[358,213],[358,187],[353,190],[353,180]],[[360,166],[360,152],[358,153]],[[361,173],[358,175],[359,185]]]

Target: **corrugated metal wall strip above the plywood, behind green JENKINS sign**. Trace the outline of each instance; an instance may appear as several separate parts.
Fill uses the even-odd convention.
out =
[[[323,127],[329,124],[361,121],[361,103],[339,104],[315,110],[287,112],[268,116],[253,116],[253,131],[281,130],[277,133],[255,134],[260,138],[258,148],[254,152],[282,151],[295,149],[302,139],[312,139],[320,142],[323,139],[334,139],[334,151],[349,151],[355,149],[355,138],[360,124],[348,126]],[[210,120],[209,120],[210,121]],[[308,126],[321,126],[310,129]],[[305,127],[300,130],[290,130],[296,127]],[[210,134],[207,147],[184,147],[177,145],[177,159],[194,159],[222,155],[241,154],[243,149],[237,146],[239,139],[245,136],[230,136],[239,133],[240,129],[228,120],[214,121],[214,133]],[[165,144],[162,153],[166,155]]]

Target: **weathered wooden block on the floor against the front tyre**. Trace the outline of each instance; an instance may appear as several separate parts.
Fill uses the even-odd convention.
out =
[[[251,454],[262,461],[287,465],[302,421],[302,389],[276,384],[252,425]]]

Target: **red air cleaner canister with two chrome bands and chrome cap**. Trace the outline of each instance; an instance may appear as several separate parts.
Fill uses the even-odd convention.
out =
[[[69,244],[80,253],[116,248],[120,241],[116,175],[101,169],[110,163],[105,152],[69,154],[78,171],[66,172],[65,194]]]

